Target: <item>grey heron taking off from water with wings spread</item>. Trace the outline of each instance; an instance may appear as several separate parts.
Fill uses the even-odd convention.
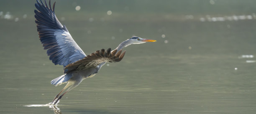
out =
[[[67,27],[61,25],[57,19],[54,13],[55,2],[53,7],[51,7],[51,1],[49,0],[48,7],[46,1],[44,1],[45,5],[41,0],[40,2],[38,0],[36,1],[35,6],[37,10],[34,11],[36,27],[44,50],[47,50],[50,60],[55,65],[59,64],[64,66],[64,74],[53,79],[51,84],[57,86],[67,83],[64,89],[62,89],[49,104],[57,104],[64,94],[77,87],[82,80],[97,74],[106,62],[121,61],[125,55],[125,52],[122,53],[123,47],[131,44],[156,41],[140,37],[131,37],[120,43],[113,51],[111,51],[110,48],[108,50],[102,49],[86,56],[69,34]],[[66,90],[66,92],[61,94],[64,90]]]

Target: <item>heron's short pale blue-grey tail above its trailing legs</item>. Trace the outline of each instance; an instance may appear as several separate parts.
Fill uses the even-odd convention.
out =
[[[54,84],[55,86],[61,85],[69,81],[69,79],[72,77],[71,74],[63,74],[60,77],[57,77],[53,80],[51,80],[51,84]]]

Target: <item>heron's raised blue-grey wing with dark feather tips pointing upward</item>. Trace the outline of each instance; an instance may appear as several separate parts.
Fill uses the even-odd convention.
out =
[[[67,64],[76,62],[79,59],[86,57],[81,48],[73,40],[65,25],[61,25],[54,13],[54,7],[49,7],[45,2],[36,0],[36,27],[44,50],[47,50],[50,60],[56,65],[60,64],[64,67]]]

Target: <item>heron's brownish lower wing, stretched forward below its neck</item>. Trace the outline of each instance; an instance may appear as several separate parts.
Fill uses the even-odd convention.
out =
[[[97,67],[103,62],[120,62],[123,59],[125,51],[122,53],[122,50],[118,52],[117,50],[110,52],[110,50],[110,48],[106,51],[104,49],[97,50],[77,62],[68,64],[64,67],[64,73],[68,73],[73,70],[87,69],[89,67]]]

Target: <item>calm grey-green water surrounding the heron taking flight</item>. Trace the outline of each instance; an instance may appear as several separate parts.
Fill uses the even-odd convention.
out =
[[[57,0],[57,17],[87,55],[133,35],[157,40],[125,47],[121,62],[85,79],[57,111],[25,107],[64,87],[50,84],[63,67],[38,40],[34,3],[0,1],[1,114],[256,113],[256,1]]]

